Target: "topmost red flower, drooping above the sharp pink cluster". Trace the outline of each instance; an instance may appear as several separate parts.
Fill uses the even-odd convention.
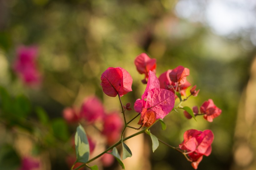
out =
[[[145,79],[142,80],[142,83],[146,84],[146,78],[149,77],[149,71],[155,73],[156,59],[150,59],[147,54],[142,53],[135,58],[134,64],[140,74],[145,74]]]

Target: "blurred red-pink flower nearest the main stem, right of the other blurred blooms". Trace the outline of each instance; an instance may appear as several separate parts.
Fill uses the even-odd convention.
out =
[[[123,120],[118,113],[111,113],[104,117],[102,134],[106,136],[109,145],[120,138],[123,129]]]

